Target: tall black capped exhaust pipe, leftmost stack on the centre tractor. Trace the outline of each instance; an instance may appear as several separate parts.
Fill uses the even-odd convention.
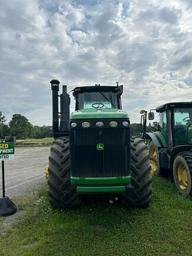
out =
[[[58,133],[58,91],[60,81],[57,79],[51,80],[51,90],[52,90],[52,108],[53,108],[53,137]]]

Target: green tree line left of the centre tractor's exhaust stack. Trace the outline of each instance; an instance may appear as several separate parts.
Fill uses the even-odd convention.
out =
[[[16,136],[17,139],[52,137],[52,126],[33,126],[21,114],[14,114],[6,124],[6,118],[0,111],[0,138],[5,136]]]

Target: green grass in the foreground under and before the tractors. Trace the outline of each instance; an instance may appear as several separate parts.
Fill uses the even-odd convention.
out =
[[[148,209],[102,200],[58,211],[48,203],[47,186],[19,197],[14,202],[27,215],[0,237],[1,256],[192,255],[192,198],[163,178],[152,188]]]

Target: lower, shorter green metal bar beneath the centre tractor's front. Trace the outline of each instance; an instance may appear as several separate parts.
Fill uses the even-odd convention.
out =
[[[125,186],[114,187],[76,187],[77,194],[94,194],[94,193],[125,193]]]

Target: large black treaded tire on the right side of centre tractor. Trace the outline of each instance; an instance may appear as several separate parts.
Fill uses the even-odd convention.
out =
[[[131,137],[131,184],[133,193],[128,187],[123,194],[122,203],[125,206],[147,208],[151,201],[151,165],[149,153],[141,137]]]

